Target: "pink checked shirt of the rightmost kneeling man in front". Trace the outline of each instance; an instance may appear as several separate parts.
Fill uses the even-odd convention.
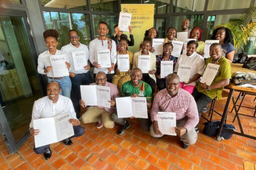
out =
[[[159,91],[153,101],[151,110],[151,121],[157,121],[157,112],[176,112],[176,120],[188,116],[184,125],[185,128],[192,129],[199,122],[197,106],[193,96],[186,90],[180,88],[178,93],[171,97],[167,89]]]

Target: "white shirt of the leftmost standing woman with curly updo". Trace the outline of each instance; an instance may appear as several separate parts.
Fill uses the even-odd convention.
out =
[[[57,49],[56,52],[55,52],[55,55],[60,55],[60,54],[64,54],[64,52]],[[46,50],[46,51],[39,54],[39,56],[38,56],[38,66],[37,66],[37,72],[38,73],[47,74],[47,76],[49,76],[49,77],[54,77],[52,70],[47,72],[47,73],[44,72],[44,70],[47,66],[52,66],[51,60],[50,60],[51,55],[52,54],[49,52],[49,50]],[[68,58],[67,54],[66,54],[66,61],[69,62],[69,58]]]

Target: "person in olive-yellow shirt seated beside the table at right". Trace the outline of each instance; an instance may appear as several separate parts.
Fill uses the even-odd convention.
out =
[[[215,97],[217,97],[217,99],[221,98],[222,90],[224,89],[224,86],[229,84],[229,79],[231,78],[231,66],[228,60],[222,56],[221,44],[211,44],[209,54],[210,57],[206,60],[206,66],[208,63],[214,63],[220,66],[211,85],[199,82],[192,93],[196,100],[199,118],[201,116],[201,109],[204,106],[211,102]],[[199,131],[198,125],[196,126],[196,131]]]

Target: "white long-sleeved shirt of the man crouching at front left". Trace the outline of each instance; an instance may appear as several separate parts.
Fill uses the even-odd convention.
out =
[[[33,120],[39,118],[53,117],[61,113],[70,113],[71,118],[76,118],[76,113],[70,98],[59,95],[57,102],[53,103],[48,96],[39,98],[34,102],[30,128],[34,127]]]

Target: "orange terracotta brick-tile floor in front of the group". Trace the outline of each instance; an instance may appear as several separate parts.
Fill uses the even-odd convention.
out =
[[[237,95],[237,93],[236,93]],[[247,96],[243,103],[254,107],[254,96]],[[224,108],[219,100],[216,110]],[[231,110],[231,106],[229,110]],[[241,112],[253,114],[252,109],[241,108]],[[219,119],[216,116],[214,119]],[[233,113],[228,114],[228,122]],[[1,169],[242,169],[243,161],[256,163],[256,142],[253,139],[233,135],[231,139],[217,141],[200,132],[195,144],[183,149],[177,137],[165,135],[161,139],[141,131],[137,121],[130,121],[131,128],[125,134],[116,134],[119,125],[112,129],[97,129],[95,123],[85,124],[85,133],[73,138],[73,145],[61,142],[51,145],[53,155],[44,160],[43,155],[33,152],[34,139],[30,137],[13,155],[0,141]],[[256,118],[241,116],[244,131],[256,136]],[[237,127],[237,122],[234,122]]]

